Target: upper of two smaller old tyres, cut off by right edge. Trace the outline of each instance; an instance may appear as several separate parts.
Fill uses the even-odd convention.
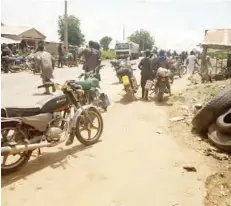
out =
[[[231,109],[219,116],[216,124],[220,132],[231,133]]]

